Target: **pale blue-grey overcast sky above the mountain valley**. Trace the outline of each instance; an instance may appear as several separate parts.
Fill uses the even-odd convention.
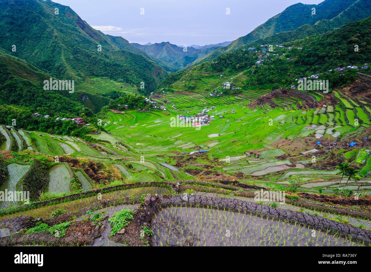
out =
[[[296,4],[323,0],[53,0],[92,27],[131,43],[214,44],[244,36]],[[141,15],[141,8],[144,15]],[[230,15],[226,9],[230,9]]]

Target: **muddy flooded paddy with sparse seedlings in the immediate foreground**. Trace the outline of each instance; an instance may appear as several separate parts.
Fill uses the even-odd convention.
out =
[[[172,207],[152,221],[156,246],[353,246],[298,224],[231,211]],[[315,233],[313,235],[313,233]]]

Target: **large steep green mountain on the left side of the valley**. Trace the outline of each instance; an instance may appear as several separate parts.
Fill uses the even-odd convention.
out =
[[[93,29],[67,6],[50,0],[0,1],[0,14],[0,48],[60,80],[108,77],[137,86],[145,82],[150,92],[167,77],[126,40]]]

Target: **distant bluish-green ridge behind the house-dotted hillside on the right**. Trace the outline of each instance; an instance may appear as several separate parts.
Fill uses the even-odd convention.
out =
[[[316,11],[315,15],[312,15],[313,8]],[[237,38],[228,46],[217,48],[206,56],[198,58],[193,64],[213,60],[217,56],[234,51],[244,44],[283,31],[295,30],[305,24],[323,24],[326,20],[332,20],[336,27],[340,27],[349,21],[364,19],[370,15],[369,0],[325,0],[317,5],[294,4],[256,27],[246,36]]]

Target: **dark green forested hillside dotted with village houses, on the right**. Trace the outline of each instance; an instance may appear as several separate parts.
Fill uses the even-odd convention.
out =
[[[263,53],[259,49],[258,51],[248,50],[248,47],[260,48],[265,40],[294,38],[294,33],[301,36],[299,31],[286,31],[224,53],[212,62],[204,62],[174,73],[159,87],[167,91],[175,91],[179,86],[174,84],[175,82],[185,81],[188,83],[186,87],[189,88],[188,86],[197,86],[195,82],[202,81],[203,77],[217,78],[220,74],[238,75],[243,78],[239,86],[242,90],[290,88],[291,85],[298,84],[298,78],[314,74],[318,74],[321,80],[327,80],[330,90],[335,87],[348,86],[357,80],[359,75],[357,72],[368,73],[369,71],[361,67],[365,63],[370,63],[371,59],[370,29],[371,16],[364,20],[349,22],[340,28],[331,29],[322,34],[315,33],[308,37],[289,40],[282,43],[281,47],[273,46],[273,52]],[[354,50],[356,47],[359,51]],[[257,61],[260,61],[260,64],[256,63]],[[335,71],[336,67],[347,66],[358,66],[359,70]],[[193,83],[189,84],[189,82]],[[198,91],[198,88],[190,90]],[[362,87],[362,90],[368,93],[369,88]]]

